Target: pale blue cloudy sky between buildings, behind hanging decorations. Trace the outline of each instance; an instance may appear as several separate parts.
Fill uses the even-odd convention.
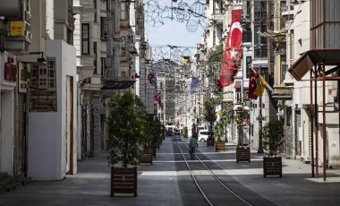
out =
[[[155,3],[161,4],[161,6],[171,7],[171,0],[144,0],[144,3]],[[177,3],[173,3],[173,6],[177,6],[181,0]],[[186,0],[185,3],[191,5],[197,0]],[[186,7],[187,9],[187,7]],[[146,9],[147,10],[147,9]],[[158,8],[159,11],[159,8]],[[171,10],[169,10],[171,11]],[[155,13],[152,13],[152,15]],[[203,34],[203,28],[199,25],[198,30],[190,32],[187,30],[187,21],[178,22],[176,20],[171,21],[169,18],[161,18],[165,21],[165,24],[159,27],[153,27],[153,21],[145,22],[146,33],[148,35],[148,41],[151,47],[157,46],[177,46],[177,47],[196,47],[197,44],[201,43],[201,35]],[[191,55],[193,55],[193,49],[191,49]]]

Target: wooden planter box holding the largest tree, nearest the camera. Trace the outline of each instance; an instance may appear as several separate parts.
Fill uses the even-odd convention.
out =
[[[111,196],[116,193],[132,193],[137,196],[137,167],[111,167]]]

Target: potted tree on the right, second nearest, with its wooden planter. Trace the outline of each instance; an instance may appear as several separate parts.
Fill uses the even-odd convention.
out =
[[[248,118],[248,111],[244,108],[243,104],[237,105],[237,109],[234,110],[234,124],[236,125],[236,131],[238,133],[238,144],[236,147],[236,163],[239,161],[251,162],[251,148],[244,141],[243,126]]]

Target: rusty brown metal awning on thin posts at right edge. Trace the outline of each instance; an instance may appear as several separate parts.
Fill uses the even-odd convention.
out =
[[[309,50],[296,60],[288,69],[288,72],[293,75],[295,80],[301,81],[302,77],[310,72],[310,69],[316,64],[339,65],[340,49],[327,48]]]

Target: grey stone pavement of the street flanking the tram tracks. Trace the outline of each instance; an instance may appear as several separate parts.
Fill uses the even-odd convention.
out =
[[[208,205],[200,197],[197,188],[191,186],[193,182],[189,173],[176,167],[179,161],[174,161],[174,157],[177,156],[174,153],[174,146],[177,143],[188,144],[188,140],[182,138],[182,142],[174,142],[172,139],[173,137],[166,137],[162,142],[152,166],[138,167],[137,197],[130,194],[110,197],[110,169],[106,154],[103,153],[79,161],[79,173],[68,175],[64,180],[31,181],[30,184],[19,186],[13,191],[0,193],[0,205]],[[256,151],[251,153],[251,163],[235,163],[233,144],[227,144],[225,152],[215,152],[215,148],[200,143],[199,152],[208,159],[213,159],[218,167],[223,168],[219,173],[224,174],[227,184],[237,183],[234,186],[235,190],[248,191],[239,193],[241,196],[252,196],[251,198],[258,196],[262,199],[261,202],[268,202],[266,205],[340,204],[338,195],[340,170],[327,170],[329,177],[327,182],[323,182],[322,178],[310,177],[309,165],[298,160],[284,159],[283,177],[264,178],[261,155]],[[215,186],[211,185],[210,189],[214,191]],[[240,187],[248,189],[240,189]],[[222,198],[227,200],[227,197]],[[226,204],[227,201],[216,205]],[[251,202],[251,205],[264,204]]]

